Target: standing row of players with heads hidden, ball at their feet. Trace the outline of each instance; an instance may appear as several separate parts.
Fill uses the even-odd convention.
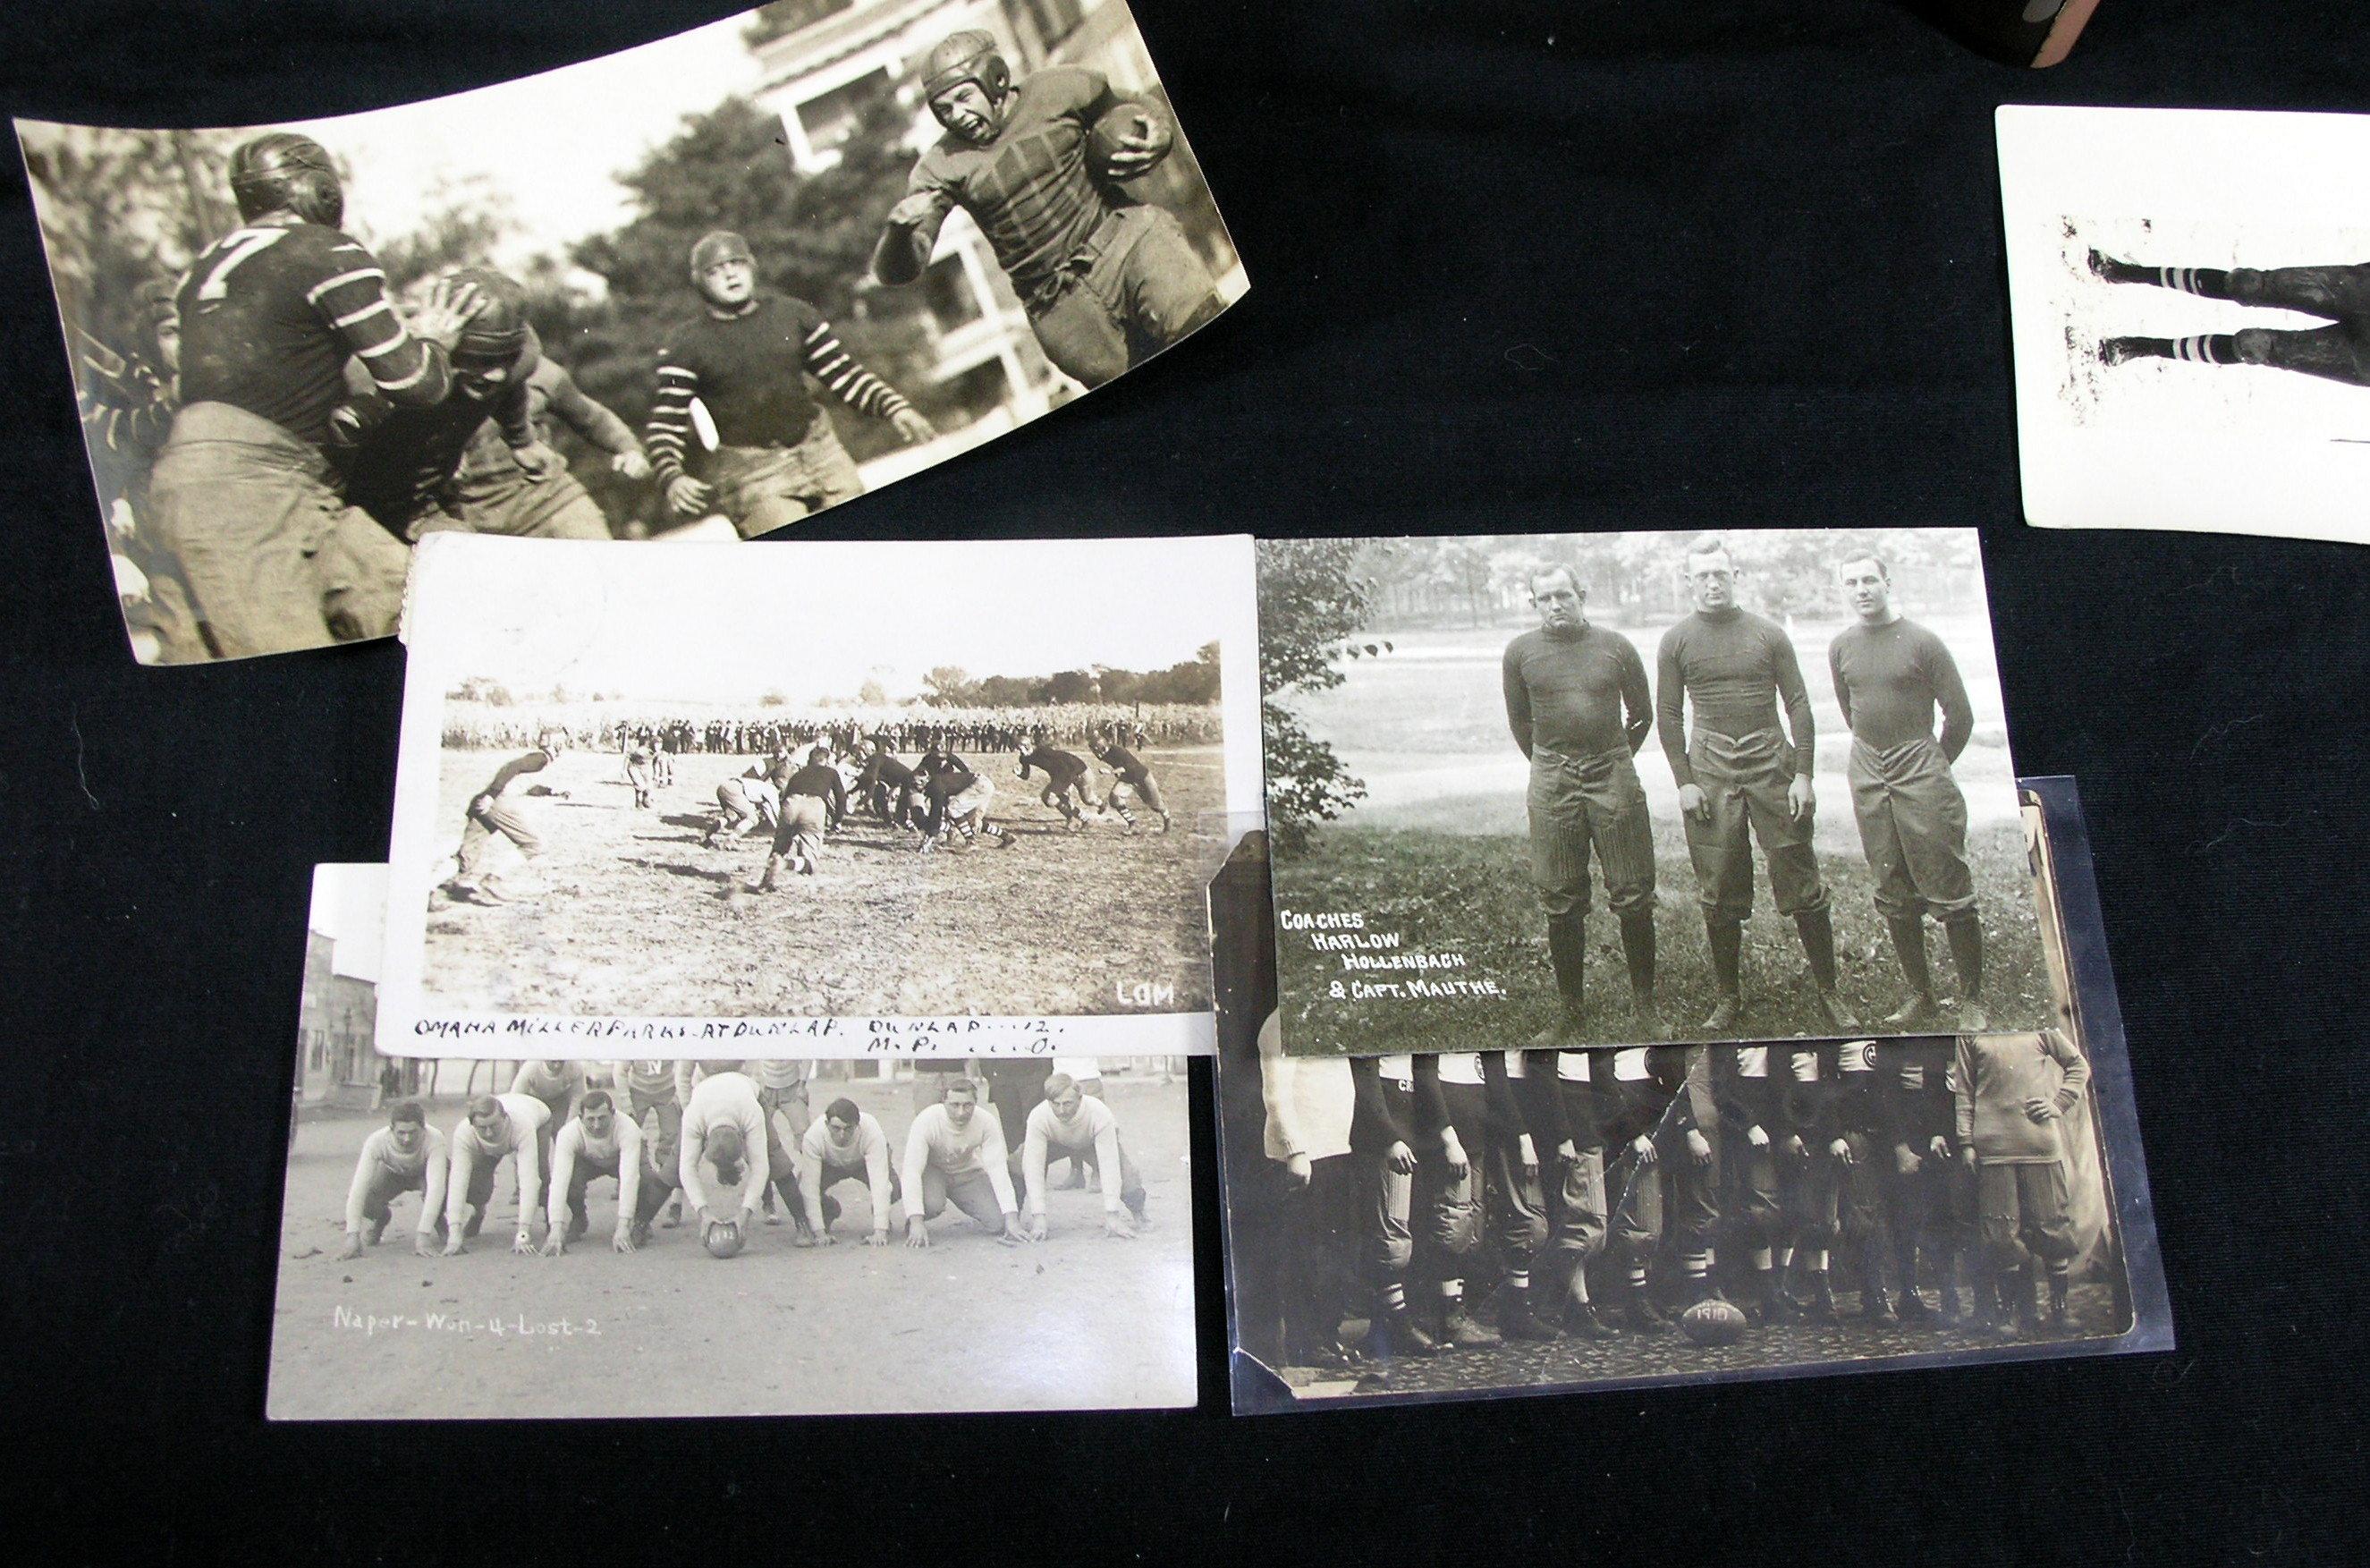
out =
[[[1661,1334],[1714,1296],[1747,1322],[1832,1319],[1837,1244],[1870,1322],[1967,1322],[1965,1279],[1974,1322],[2033,1326],[2045,1281],[2062,1329],[2083,1232],[2105,1227],[2088,1078],[2060,1030],[1301,1059],[1270,1016],[1285,1357]],[[1491,1244],[1495,1331],[1465,1305]]]

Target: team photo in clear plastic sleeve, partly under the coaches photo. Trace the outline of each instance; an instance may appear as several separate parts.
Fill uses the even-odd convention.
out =
[[[2112,981],[2026,1033],[1299,1059],[1218,957],[1237,1409],[2169,1341]]]

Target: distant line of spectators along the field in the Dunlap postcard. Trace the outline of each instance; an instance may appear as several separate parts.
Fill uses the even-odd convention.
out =
[[[889,751],[1014,751],[1031,734],[1085,741],[1112,732],[1128,746],[1197,746],[1223,739],[1216,706],[1202,703],[1048,703],[1043,708],[841,708],[792,718],[540,718],[536,708],[505,713],[446,713],[443,744],[491,751],[526,746],[538,734],[559,732],[581,748],[619,751],[642,741],[671,756],[780,756],[796,746],[830,741],[839,756],[856,756],[865,739],[884,737]]]

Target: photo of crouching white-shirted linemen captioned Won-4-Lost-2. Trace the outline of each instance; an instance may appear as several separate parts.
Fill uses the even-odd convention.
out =
[[[398,1059],[315,872],[277,1421],[1194,1400],[1185,1061]]]

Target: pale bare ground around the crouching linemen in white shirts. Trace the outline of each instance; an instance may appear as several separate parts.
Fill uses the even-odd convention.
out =
[[[592,1234],[564,1258],[514,1258],[512,1177],[460,1258],[415,1258],[417,1199],[386,1241],[339,1262],[346,1182],[365,1116],[308,1116],[289,1156],[273,1419],[697,1416],[939,1409],[1112,1409],[1194,1400],[1192,1177],[1185,1082],[1104,1080],[1145,1177],[1154,1227],[1102,1234],[1095,1191],[1052,1191],[1052,1236],[998,1246],[960,1215],[929,1251],[867,1248],[863,1187],[839,1246],[796,1251],[756,1227],[718,1262],[694,1227],[607,1246],[614,1184],[595,1182]],[[818,1082],[848,1094],[896,1149],[910,1087]],[[450,1130],[460,1104],[429,1108]],[[446,1326],[431,1326],[431,1315]],[[389,1322],[391,1319],[391,1322]],[[569,1324],[569,1331],[550,1331]],[[495,1331],[500,1326],[500,1331]],[[533,1331],[521,1331],[533,1329]]]

